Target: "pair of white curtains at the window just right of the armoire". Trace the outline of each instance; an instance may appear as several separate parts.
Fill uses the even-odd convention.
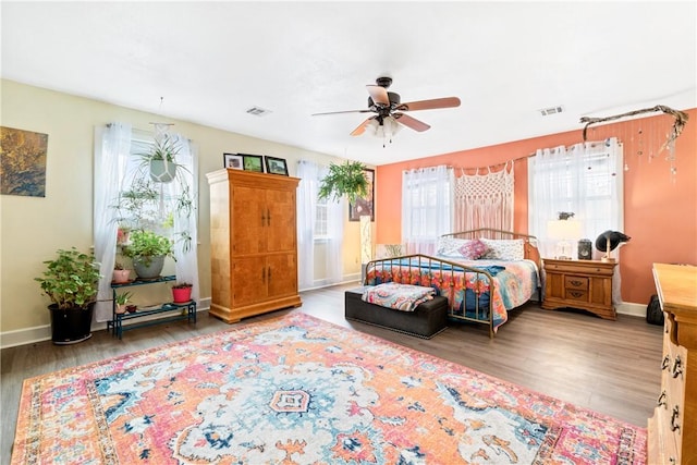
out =
[[[297,188],[297,277],[301,290],[315,287],[318,281],[315,276],[317,195],[327,172],[326,167],[313,161],[301,160],[297,164],[297,176],[301,179]],[[343,278],[344,211],[343,199],[327,199],[327,231],[321,236],[326,247],[325,284],[341,282]]]

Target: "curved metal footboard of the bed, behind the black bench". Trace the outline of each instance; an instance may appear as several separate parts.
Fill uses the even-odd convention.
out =
[[[497,315],[491,296],[497,282],[486,269],[421,254],[369,261],[364,285],[384,282],[433,287],[437,295],[448,298],[450,319],[487,325],[489,338],[494,335]]]

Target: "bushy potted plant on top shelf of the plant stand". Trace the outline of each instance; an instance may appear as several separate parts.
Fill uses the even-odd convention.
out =
[[[133,260],[138,278],[155,279],[162,272],[164,257],[174,258],[174,243],[154,231],[134,230],[131,243],[121,248],[121,254]]]

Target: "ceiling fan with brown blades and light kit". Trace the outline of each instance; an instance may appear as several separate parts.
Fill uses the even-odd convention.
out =
[[[366,88],[368,89],[370,97],[368,97],[368,108],[365,110],[330,111],[328,113],[314,113],[313,117],[340,113],[375,113],[351,132],[352,136],[359,136],[370,125],[374,125],[376,130],[382,129],[382,134],[386,134],[384,126],[389,126],[392,121],[403,124],[414,131],[424,132],[429,130],[431,126],[423,121],[409,117],[404,113],[404,111],[460,107],[460,99],[457,97],[435,98],[431,100],[402,103],[399,94],[388,91],[391,84],[391,77],[378,77],[376,79],[376,84],[368,84]],[[393,131],[390,132],[393,133]]]

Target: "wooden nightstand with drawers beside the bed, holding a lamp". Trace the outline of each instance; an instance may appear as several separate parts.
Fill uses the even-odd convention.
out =
[[[542,308],[579,308],[614,320],[612,273],[616,262],[600,260],[553,260],[545,258]]]

